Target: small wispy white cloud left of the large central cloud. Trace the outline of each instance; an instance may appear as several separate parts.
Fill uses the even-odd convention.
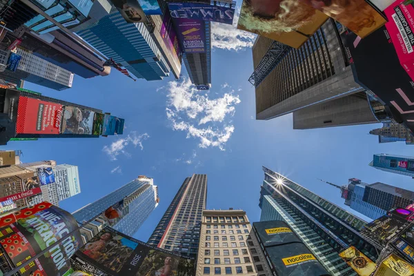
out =
[[[141,150],[144,150],[142,141],[148,139],[150,135],[144,133],[142,135],[137,135],[137,132],[132,131],[125,138],[117,139],[117,141],[112,142],[109,146],[103,146],[103,152],[106,152],[112,161],[117,160],[117,156],[120,154],[130,156],[130,153],[126,150],[126,147],[129,144],[132,144],[134,148],[139,146]]]

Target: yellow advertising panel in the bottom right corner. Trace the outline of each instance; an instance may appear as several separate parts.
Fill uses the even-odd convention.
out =
[[[411,276],[414,275],[414,267],[395,254],[389,255],[373,276]]]

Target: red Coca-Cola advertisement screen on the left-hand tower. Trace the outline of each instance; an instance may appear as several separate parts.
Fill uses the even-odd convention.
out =
[[[20,97],[17,133],[59,134],[62,106],[59,103]]]

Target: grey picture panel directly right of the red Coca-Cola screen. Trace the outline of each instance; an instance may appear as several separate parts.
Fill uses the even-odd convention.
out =
[[[63,134],[92,135],[95,112],[73,106],[65,106],[62,117]]]

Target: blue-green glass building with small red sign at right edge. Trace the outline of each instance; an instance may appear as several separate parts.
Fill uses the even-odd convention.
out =
[[[414,178],[414,157],[381,153],[374,155],[373,161],[371,161],[369,166],[378,170],[384,170],[384,172],[393,172]]]

